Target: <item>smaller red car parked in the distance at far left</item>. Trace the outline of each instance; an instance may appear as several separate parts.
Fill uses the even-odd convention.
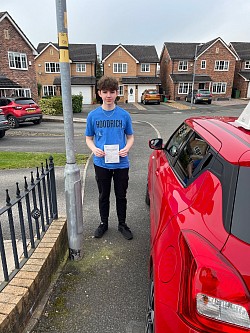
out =
[[[1,97],[0,111],[7,118],[11,128],[19,127],[23,122],[40,124],[42,121],[41,109],[28,97]]]

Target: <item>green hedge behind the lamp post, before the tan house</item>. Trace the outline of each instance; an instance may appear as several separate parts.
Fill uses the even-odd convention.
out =
[[[72,109],[73,113],[82,112],[82,95],[72,95]],[[63,114],[63,106],[62,106],[62,97],[44,97],[40,99],[39,106],[43,112],[43,114],[47,115],[61,115]]]

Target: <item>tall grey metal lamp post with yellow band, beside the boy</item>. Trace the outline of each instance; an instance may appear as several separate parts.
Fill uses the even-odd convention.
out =
[[[66,0],[56,0],[56,13],[66,148],[64,177],[69,258],[79,260],[83,245],[82,185],[75,159]]]

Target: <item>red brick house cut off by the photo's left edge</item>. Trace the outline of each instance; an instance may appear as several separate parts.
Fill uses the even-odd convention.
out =
[[[37,51],[8,12],[0,13],[0,96],[37,100]]]

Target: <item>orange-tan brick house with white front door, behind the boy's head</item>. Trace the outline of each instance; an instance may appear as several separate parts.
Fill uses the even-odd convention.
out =
[[[159,89],[158,63],[152,45],[102,45],[103,74],[119,81],[121,102],[140,102],[145,89]]]

